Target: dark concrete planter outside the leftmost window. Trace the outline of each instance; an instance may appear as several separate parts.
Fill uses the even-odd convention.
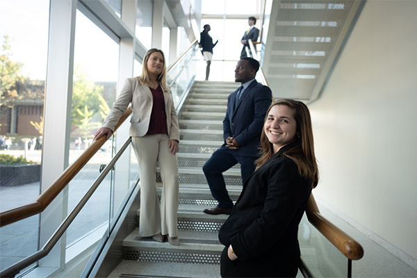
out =
[[[0,165],[0,186],[19,186],[40,181],[40,164]]]

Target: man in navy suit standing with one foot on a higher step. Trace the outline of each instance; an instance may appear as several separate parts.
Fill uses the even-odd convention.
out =
[[[227,193],[223,172],[240,163],[243,184],[254,172],[254,161],[259,154],[259,140],[265,113],[272,102],[270,88],[256,82],[259,70],[257,60],[249,57],[238,61],[235,81],[241,85],[227,98],[227,111],[223,120],[224,144],[213,152],[203,165],[211,195],[218,206],[204,210],[208,214],[229,214],[233,202]]]

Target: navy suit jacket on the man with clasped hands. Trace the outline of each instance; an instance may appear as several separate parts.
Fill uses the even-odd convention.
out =
[[[227,98],[227,111],[223,120],[223,139],[231,136],[240,145],[234,150],[237,156],[258,156],[259,140],[265,114],[272,102],[270,88],[256,80],[240,96],[237,107],[235,106],[236,92],[232,92]],[[220,149],[229,149],[224,143]]]

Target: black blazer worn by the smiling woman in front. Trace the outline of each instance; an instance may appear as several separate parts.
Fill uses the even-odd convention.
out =
[[[311,180],[301,177],[295,162],[283,155],[297,143],[282,147],[247,179],[219,231],[220,242],[232,245],[238,256],[235,265],[252,265],[259,277],[279,276],[280,264],[294,265],[297,271],[298,224],[311,193]]]

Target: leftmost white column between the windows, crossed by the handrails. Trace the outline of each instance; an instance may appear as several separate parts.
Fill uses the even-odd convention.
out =
[[[42,192],[68,166],[71,131],[72,75],[76,0],[51,0],[47,82],[44,101]],[[49,239],[67,215],[67,195],[61,193],[41,214],[40,246]],[[40,266],[63,268],[65,237]]]

